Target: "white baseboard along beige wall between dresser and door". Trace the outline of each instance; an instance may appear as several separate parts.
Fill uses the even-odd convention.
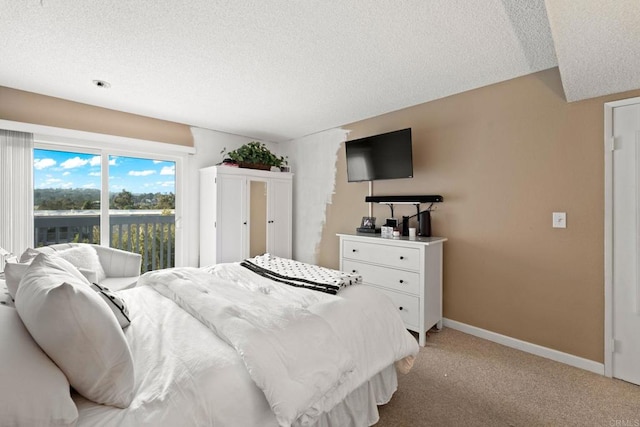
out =
[[[451,319],[443,319],[443,324],[448,328],[464,332],[465,334],[483,338],[488,341],[493,341],[507,347],[524,351],[526,353],[544,357],[546,359],[555,360],[556,362],[565,363],[576,368],[585,369],[596,374],[604,375],[603,363],[594,362],[593,360],[584,359],[582,357],[574,356],[569,353],[563,353],[561,351],[553,350],[548,347],[532,344],[530,342],[511,338],[506,335],[497,334],[495,332],[487,331],[486,329],[477,328],[475,326],[467,325],[466,323],[458,322]]]

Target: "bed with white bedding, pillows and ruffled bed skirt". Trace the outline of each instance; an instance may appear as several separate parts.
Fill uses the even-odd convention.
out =
[[[375,424],[397,371],[418,353],[393,304],[357,284],[342,282],[333,295],[311,289],[308,278],[283,283],[286,275],[255,270],[160,270],[109,293],[57,257],[37,255],[16,309],[0,307],[1,324],[3,333],[22,327],[29,351],[46,353],[38,367],[55,362],[47,386],[56,392],[16,381],[9,396],[3,387],[0,424],[25,424],[23,411],[30,425]],[[25,360],[7,352],[3,346],[0,360]],[[18,377],[33,369],[20,365],[27,373]],[[33,399],[38,414],[25,409]]]

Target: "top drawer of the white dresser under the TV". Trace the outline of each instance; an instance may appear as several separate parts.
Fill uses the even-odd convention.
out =
[[[410,270],[420,269],[420,249],[418,248],[364,243],[354,240],[345,240],[342,245],[344,258]]]

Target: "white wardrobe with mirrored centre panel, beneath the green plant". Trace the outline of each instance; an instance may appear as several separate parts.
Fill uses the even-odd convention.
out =
[[[200,169],[200,266],[265,252],[291,258],[292,177],[230,166]]]

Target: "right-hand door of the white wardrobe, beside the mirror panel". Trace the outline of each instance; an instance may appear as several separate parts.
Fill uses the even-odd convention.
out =
[[[267,197],[267,251],[282,258],[291,258],[291,180],[270,180]]]

